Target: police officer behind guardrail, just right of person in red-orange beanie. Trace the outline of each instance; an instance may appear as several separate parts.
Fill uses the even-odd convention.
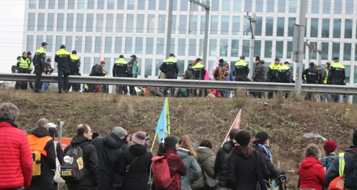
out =
[[[116,60],[114,62],[113,76],[114,77],[127,77],[129,72],[130,72],[130,69],[129,69],[128,62],[126,62],[126,60],[124,60],[123,55],[120,55],[119,60]],[[119,85],[116,86],[117,94],[123,94],[123,90],[124,90],[124,94],[128,93],[127,86],[119,86]]]

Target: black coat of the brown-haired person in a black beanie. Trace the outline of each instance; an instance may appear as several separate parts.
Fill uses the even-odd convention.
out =
[[[226,167],[226,186],[232,190],[256,190],[258,183],[258,170],[255,161],[255,150],[248,147],[245,153],[237,150],[234,151],[227,159]],[[258,162],[262,171],[263,178],[269,176],[269,171],[265,165],[264,159],[260,154]]]

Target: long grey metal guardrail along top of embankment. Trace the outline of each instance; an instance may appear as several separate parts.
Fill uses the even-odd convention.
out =
[[[2,81],[35,81],[34,74],[1,73]],[[42,82],[58,83],[57,75],[42,75]],[[214,80],[177,80],[177,79],[142,79],[142,78],[120,78],[101,76],[69,76],[70,83],[80,84],[104,84],[125,86],[154,86],[175,88],[196,88],[232,90],[245,89],[250,91],[295,91],[292,83],[259,83],[259,82],[236,82],[236,81],[214,81]],[[357,88],[343,85],[316,85],[302,84],[302,91],[319,94],[355,95]]]

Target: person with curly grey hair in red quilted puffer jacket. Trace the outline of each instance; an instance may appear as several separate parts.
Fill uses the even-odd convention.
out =
[[[17,116],[14,104],[0,105],[0,189],[21,190],[31,184],[32,154],[26,132],[15,124]]]

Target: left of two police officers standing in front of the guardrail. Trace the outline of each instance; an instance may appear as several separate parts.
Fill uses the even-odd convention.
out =
[[[35,52],[35,56],[32,59],[32,62],[34,62],[35,65],[35,72],[36,72],[36,81],[35,81],[35,86],[34,86],[34,92],[35,93],[41,93],[40,91],[40,83],[41,83],[41,77],[42,77],[42,72],[46,72],[46,67],[45,67],[45,58],[46,58],[46,52],[45,49],[47,48],[47,43],[42,42],[41,43],[40,49],[37,49]]]

